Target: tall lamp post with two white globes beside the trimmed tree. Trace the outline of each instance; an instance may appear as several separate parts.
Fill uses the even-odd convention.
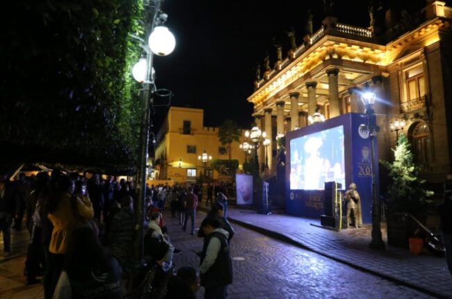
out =
[[[137,197],[134,204],[136,214],[136,240],[134,243],[134,261],[137,268],[144,264],[143,243],[144,243],[144,223],[145,223],[145,196],[146,196],[146,165],[147,151],[149,146],[150,131],[150,107],[154,102],[154,69],[152,67],[153,54],[166,56],[175,48],[175,38],[170,31],[161,26],[168,15],[161,11],[162,0],[150,0],[149,16],[150,21],[146,26],[147,43],[142,38],[133,36],[142,42],[141,47],[146,53],[146,58],[141,58],[132,70],[136,81],[143,83],[141,105],[143,112],[141,115],[140,142],[138,153],[138,174],[136,179]]]

